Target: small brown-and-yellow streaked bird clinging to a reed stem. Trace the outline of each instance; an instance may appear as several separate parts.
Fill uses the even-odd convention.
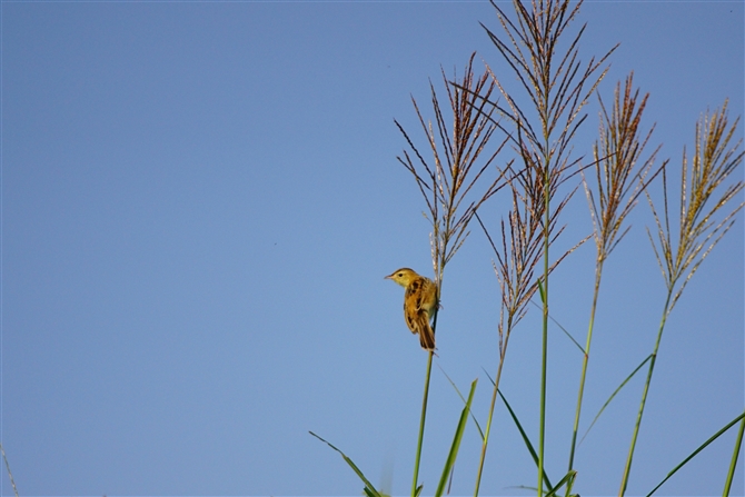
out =
[[[435,332],[429,321],[438,306],[437,285],[429,278],[417,275],[409,268],[395,270],[386,279],[406,288],[404,318],[413,334],[419,334],[419,344],[425,350],[435,350]]]

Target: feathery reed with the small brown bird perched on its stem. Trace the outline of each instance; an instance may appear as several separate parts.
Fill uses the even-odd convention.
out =
[[[457,86],[451,87],[443,72],[448,103],[453,112],[451,129],[448,129],[437,92],[431,82],[435,128],[431,121],[425,121],[416,100],[411,99],[430,148],[434,163],[424,158],[404,128],[396,121],[396,126],[398,126],[411,150],[411,153],[404,150],[404,156],[398,157],[398,160],[414,176],[427,205],[425,216],[431,225],[430,251],[438,295],[441,295],[446,265],[468,237],[468,223],[477,209],[505,185],[503,181],[504,172],[497,171],[495,167],[495,172],[491,175],[494,178],[486,180],[486,186],[480,191],[473,191],[477,182],[484,182],[479,180],[486,177],[485,173],[490,169],[506,143],[503,140],[494,151],[486,153],[485,159],[481,159],[481,153],[497,130],[497,125],[493,119],[495,109],[487,103],[495,83],[489,81],[488,73],[478,78],[474,77],[475,56],[475,53],[470,56],[465,73],[457,81]],[[433,331],[436,330],[436,326],[437,312],[435,312]],[[433,355],[434,351],[429,351],[425,374],[411,496],[421,491],[418,483],[419,463],[421,460],[427,416]]]

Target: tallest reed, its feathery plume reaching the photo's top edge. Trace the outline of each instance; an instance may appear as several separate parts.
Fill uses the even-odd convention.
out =
[[[506,130],[526,173],[534,175],[532,183],[540,185],[538,192],[543,202],[542,241],[543,277],[538,280],[543,304],[542,370],[540,370],[540,421],[538,428],[538,497],[544,494],[544,453],[546,439],[546,371],[548,362],[548,275],[552,197],[556,188],[576,172],[578,159],[573,158],[572,142],[586,119],[583,108],[597,85],[605,77],[609,50],[599,59],[587,63],[579,60],[578,44],[584,33],[583,26],[574,33],[569,27],[575,20],[582,1],[574,6],[569,0],[533,0],[529,6],[513,0],[516,19],[513,21],[491,1],[504,32],[503,37],[484,27],[517,77],[527,97],[529,108],[523,108],[516,97],[507,91],[501,80],[490,71],[505,100],[495,103],[506,117]],[[486,443],[487,440],[485,440]],[[483,450],[484,453],[485,450]],[[483,461],[480,463],[483,465]],[[480,478],[480,469],[479,477]],[[478,481],[477,489],[478,493]]]

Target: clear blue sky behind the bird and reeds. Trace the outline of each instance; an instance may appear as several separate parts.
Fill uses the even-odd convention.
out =
[[[503,7],[509,9],[508,3]],[[359,495],[410,487],[426,352],[401,319],[408,266],[431,275],[425,203],[397,162],[410,96],[471,51],[511,74],[476,2],[3,2],[2,446],[21,495]],[[677,170],[696,119],[743,113],[744,4],[588,2],[583,60],[615,43]],[[596,137],[587,108],[576,156]],[[738,137],[743,136],[742,129]],[[677,172],[673,176],[676,176]],[[742,178],[742,168],[736,173]],[[658,187],[658,185],[657,185]],[[655,190],[658,192],[658,189]],[[742,201],[738,200],[738,201]],[[490,226],[504,198],[484,207]],[[665,287],[644,229],[606,265],[582,427],[653,348]],[[570,246],[590,232],[579,192]],[[496,233],[496,229],[495,229]],[[744,406],[743,221],[668,320],[629,484],[646,494]],[[552,280],[552,314],[584,342],[594,246]],[[463,404],[485,423],[498,286],[474,229],[448,266],[421,480],[435,490]],[[537,439],[540,330],[515,331],[503,387]],[[547,469],[566,470],[582,356],[549,335]],[[439,366],[439,367],[438,367]],[[617,493],[643,386],[577,454],[582,495]],[[660,495],[721,494],[735,430]],[[453,484],[473,493],[469,424]],[[743,495],[743,464],[734,495]],[[523,495],[535,466],[505,409],[483,495]],[[8,477],[2,495],[12,495]]]

